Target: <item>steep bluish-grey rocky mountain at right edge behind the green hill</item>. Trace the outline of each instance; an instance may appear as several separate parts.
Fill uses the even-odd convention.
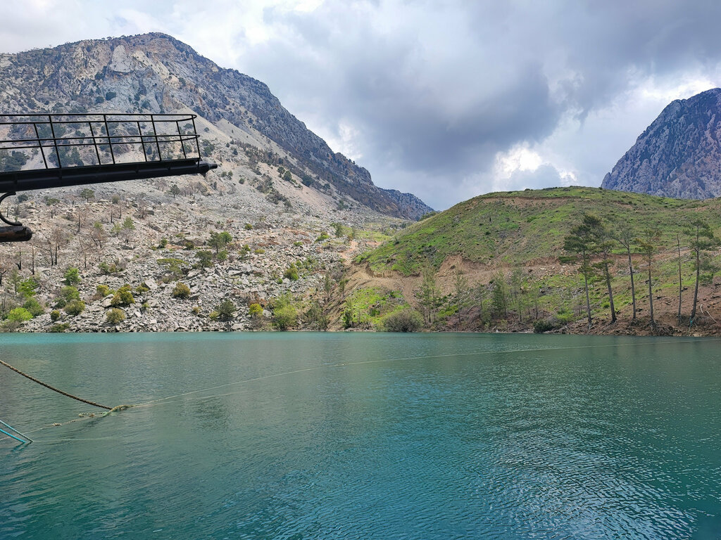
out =
[[[668,105],[601,186],[678,199],[721,196],[721,89]]]

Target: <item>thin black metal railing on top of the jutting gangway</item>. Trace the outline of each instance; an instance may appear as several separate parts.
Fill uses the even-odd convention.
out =
[[[195,114],[0,114],[0,151],[5,151],[0,161],[6,165],[0,172],[22,170],[29,157],[23,150],[31,150],[33,156],[40,153],[46,169],[200,160],[195,118]]]

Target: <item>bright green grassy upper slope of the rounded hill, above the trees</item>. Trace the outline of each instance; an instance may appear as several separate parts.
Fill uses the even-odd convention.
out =
[[[410,276],[424,265],[438,269],[453,255],[492,266],[558,258],[563,238],[584,212],[611,226],[627,222],[639,232],[658,227],[662,242],[671,248],[684,217],[702,215],[719,224],[721,200],[668,199],[585,187],[492,193],[415,223],[357,262],[367,262],[375,272],[393,270]]]

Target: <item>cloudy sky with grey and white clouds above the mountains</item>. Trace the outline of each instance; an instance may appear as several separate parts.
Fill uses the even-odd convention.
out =
[[[24,0],[0,20],[9,53],[173,35],[439,210],[598,186],[668,102],[721,86],[717,0]]]

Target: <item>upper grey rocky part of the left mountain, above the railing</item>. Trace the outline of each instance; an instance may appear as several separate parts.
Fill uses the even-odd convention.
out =
[[[1,54],[0,70],[1,112],[191,109],[213,125],[224,122],[231,144],[286,158],[286,168],[306,184],[329,184],[340,196],[395,217],[417,219],[431,210],[411,194],[375,186],[365,168],[332,152],[262,82],[218,67],[168,35]]]

